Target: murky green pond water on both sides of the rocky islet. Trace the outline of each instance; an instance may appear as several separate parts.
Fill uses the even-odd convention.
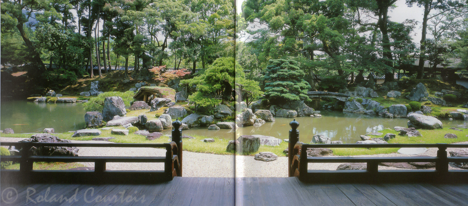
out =
[[[27,101],[2,101],[0,104],[0,129],[12,128],[15,133],[42,132],[44,128],[54,128],[55,132],[68,132],[84,128],[83,103],[34,103]],[[289,122],[293,118],[276,118],[260,127],[248,126],[234,130],[207,130],[191,128],[184,130],[183,135],[199,135],[208,138],[234,139],[234,135],[262,134],[280,139],[288,139],[291,129]],[[405,126],[407,118],[381,118],[363,114],[322,111],[322,118],[298,117],[300,141],[309,143],[314,134],[323,134],[332,140],[344,143],[355,143],[359,135],[366,132],[378,132],[384,128]],[[444,127],[468,126],[467,121],[441,120]],[[235,132],[235,133],[234,133]],[[170,130],[164,130],[170,134]],[[237,136],[236,135],[236,136]]]

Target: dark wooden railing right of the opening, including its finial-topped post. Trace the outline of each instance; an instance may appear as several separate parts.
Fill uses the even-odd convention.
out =
[[[292,121],[289,131],[289,177],[307,182],[459,182],[468,183],[468,170],[448,169],[449,162],[468,162],[468,157],[447,157],[447,148],[468,148],[468,144],[302,144],[299,122]],[[308,157],[308,148],[400,148],[437,147],[436,157]],[[365,162],[366,170],[308,170],[308,163]],[[382,162],[435,162],[435,169],[379,170]]]

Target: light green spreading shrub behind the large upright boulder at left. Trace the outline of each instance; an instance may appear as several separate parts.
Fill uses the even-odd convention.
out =
[[[83,103],[83,108],[86,111],[102,111],[104,99],[110,96],[120,96],[124,100],[125,106],[130,106],[130,102],[133,101],[133,95],[132,91],[104,92],[97,97],[91,98],[87,103]]]

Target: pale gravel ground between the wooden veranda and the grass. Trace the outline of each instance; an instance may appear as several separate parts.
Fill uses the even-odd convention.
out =
[[[19,141],[23,138],[1,137],[1,141]],[[78,141],[82,143],[108,143],[105,141]],[[460,142],[458,144],[468,144]],[[164,156],[166,150],[159,148],[99,148],[78,147],[80,156]],[[453,148],[448,148],[447,153]],[[419,155],[436,156],[437,148],[428,148],[428,151]],[[380,155],[358,155],[360,157],[395,157],[414,156],[399,153]],[[235,159],[235,161],[234,161]],[[254,160],[253,156],[241,155],[215,155],[206,153],[183,152],[183,176],[184,177],[287,177],[287,157],[278,157],[272,162]],[[83,163],[87,167],[94,167],[92,162]],[[308,169],[335,170],[340,163],[309,163]],[[163,170],[163,163],[108,163],[108,170]],[[379,166],[379,169],[401,169],[395,167]],[[449,169],[459,169],[449,166]]]

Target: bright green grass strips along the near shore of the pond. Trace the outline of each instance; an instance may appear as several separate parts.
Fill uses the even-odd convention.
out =
[[[123,127],[116,127],[123,129]],[[402,137],[398,136],[398,132],[395,132],[392,129],[384,129],[380,131],[383,133],[382,136],[373,136],[373,137],[383,137],[386,133],[394,133],[396,134],[396,138],[389,140],[388,143],[406,143],[406,144],[415,144],[415,143],[455,143],[455,142],[462,142],[468,141],[468,129],[464,129],[465,131],[455,131],[449,128],[439,129],[439,130],[418,130],[421,132],[423,137]],[[445,139],[444,135],[446,133],[453,133],[458,136],[458,139]],[[73,133],[59,133],[55,134],[55,136],[67,139],[67,140],[91,140],[96,136],[87,136],[87,137],[72,137]],[[21,137],[21,138],[29,138],[30,134],[2,134],[4,137]],[[136,135],[136,134],[129,134],[127,136],[122,135],[113,135],[110,134],[110,130],[102,130],[102,134],[99,137],[116,137],[116,139],[110,140],[111,142],[116,143],[167,143],[169,142],[169,138],[167,136],[162,136],[160,139],[157,140],[146,140],[145,136]],[[200,152],[200,153],[212,153],[212,154],[219,154],[219,155],[232,155],[232,152],[227,152],[227,142],[233,139],[219,139],[214,138],[215,142],[212,143],[205,143],[201,140],[205,139],[205,136],[194,136],[195,139],[183,139],[183,149],[184,151],[190,152]],[[281,142],[281,144],[277,147],[271,146],[260,146],[257,152],[248,154],[248,155],[255,155],[258,152],[272,152],[277,154],[278,156],[285,156],[283,150],[288,147],[287,142]],[[399,148],[332,148],[335,155],[375,155],[375,154],[388,154],[394,153]]]

